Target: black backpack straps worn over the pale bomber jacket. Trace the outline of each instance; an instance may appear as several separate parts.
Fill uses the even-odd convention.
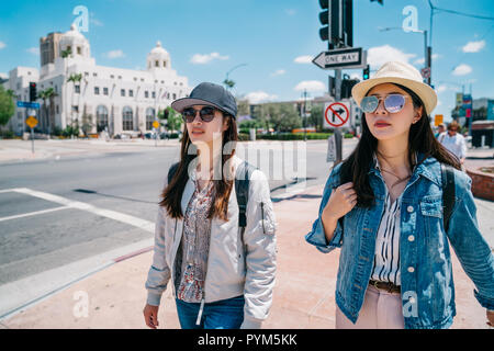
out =
[[[177,172],[179,162],[171,165],[168,170],[168,183],[170,183],[173,174]],[[238,226],[242,228],[242,233],[244,233],[245,227],[247,226],[247,202],[249,201],[249,184],[250,184],[250,176],[256,170],[256,167],[250,165],[247,161],[242,162],[237,168],[237,173],[235,177],[235,192],[237,194],[237,203],[238,203]]]

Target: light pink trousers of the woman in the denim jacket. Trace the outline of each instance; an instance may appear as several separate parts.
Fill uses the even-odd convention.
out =
[[[356,324],[336,306],[336,329],[404,329],[402,308],[400,293],[369,285]]]

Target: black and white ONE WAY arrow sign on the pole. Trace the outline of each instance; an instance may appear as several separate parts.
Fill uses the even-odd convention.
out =
[[[361,47],[339,48],[322,52],[312,63],[323,69],[364,68],[367,66],[364,53]]]

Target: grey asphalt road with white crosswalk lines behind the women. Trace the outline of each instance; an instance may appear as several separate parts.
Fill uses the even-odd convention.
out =
[[[263,168],[273,201],[282,201],[295,189],[290,185],[303,180],[303,174],[299,180],[292,176],[303,170],[297,162],[304,158],[307,182],[302,186],[327,179],[326,141],[307,143],[305,149],[302,141],[292,144],[292,154],[287,143],[258,145],[282,151],[272,151],[269,169]],[[344,156],[355,145],[346,140]],[[239,155],[249,155],[262,169],[261,152],[256,157],[251,151]],[[166,147],[0,165],[0,285],[151,239],[161,184],[178,158],[178,147]],[[291,170],[281,179],[273,170],[280,165]],[[12,189],[20,190],[5,191]]]

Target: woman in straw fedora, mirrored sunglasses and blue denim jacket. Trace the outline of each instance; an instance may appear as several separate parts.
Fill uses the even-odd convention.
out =
[[[336,327],[449,328],[449,244],[493,324],[494,257],[479,231],[470,178],[434,137],[435,91],[413,66],[386,63],[352,97],[364,112],[361,139],[334,167],[305,237],[322,252],[341,248]]]

